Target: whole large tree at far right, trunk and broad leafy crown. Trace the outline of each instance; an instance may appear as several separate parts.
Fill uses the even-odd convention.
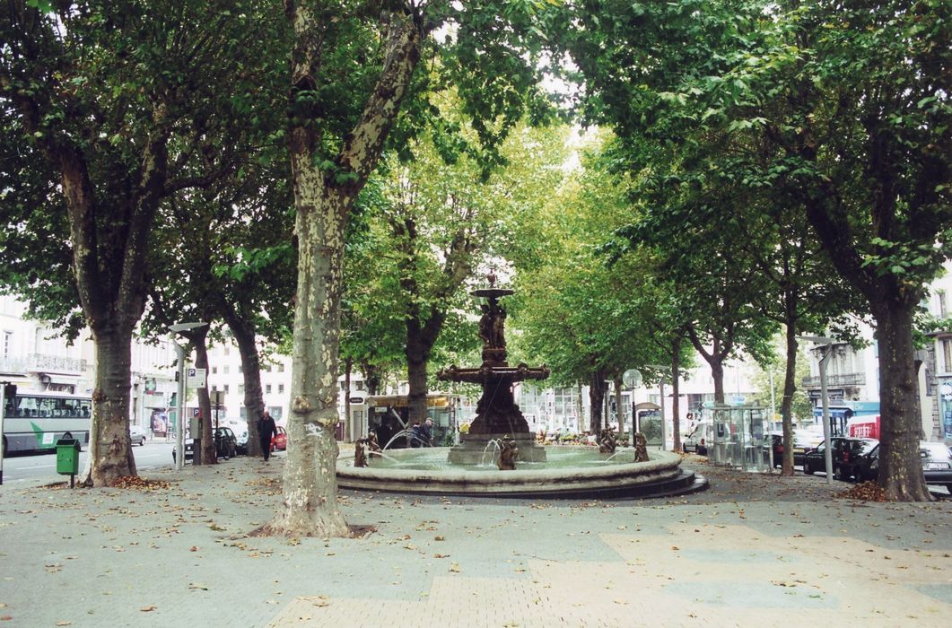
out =
[[[949,257],[942,3],[585,9],[596,5],[598,23],[594,12],[578,15],[588,43],[572,44],[597,93],[588,110],[636,150],[645,136],[666,138],[692,167],[699,128],[727,145],[756,134],[768,147],[769,158],[751,161],[753,176],[738,181],[795,199],[863,296],[880,348],[880,481],[891,499],[927,500],[912,328],[924,286]]]

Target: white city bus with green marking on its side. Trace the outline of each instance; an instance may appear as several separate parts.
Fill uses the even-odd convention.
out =
[[[66,432],[89,445],[92,399],[61,392],[18,391],[3,409],[3,451],[55,451]]]

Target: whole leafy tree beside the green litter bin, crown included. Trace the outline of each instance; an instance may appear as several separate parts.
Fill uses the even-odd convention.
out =
[[[15,245],[28,255],[63,244],[49,261],[21,260],[30,269],[11,268],[7,283],[33,311],[89,326],[96,374],[82,484],[135,474],[129,347],[147,299],[150,229],[165,200],[228,173],[188,166],[227,149],[217,140],[229,99],[248,88],[233,79],[264,56],[255,17],[240,4],[188,1],[5,5],[4,231],[50,234]]]

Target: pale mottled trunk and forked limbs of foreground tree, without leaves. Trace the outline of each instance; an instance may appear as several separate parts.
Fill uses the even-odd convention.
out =
[[[286,12],[295,39],[288,105],[297,109],[298,95],[320,82],[323,25],[319,14],[306,4],[288,2]],[[335,160],[340,173],[353,176],[341,179],[319,169],[321,162],[315,156],[325,146],[311,125],[291,128],[288,133],[298,241],[288,460],[284,506],[262,534],[348,534],[337,501],[334,440],[344,226],[347,212],[377,165],[419,61],[422,25],[414,17],[399,11],[388,15],[383,68]]]

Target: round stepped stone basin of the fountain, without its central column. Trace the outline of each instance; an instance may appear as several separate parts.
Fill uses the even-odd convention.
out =
[[[563,453],[559,453],[559,452]],[[370,466],[354,467],[353,460],[337,462],[341,488],[424,495],[465,495],[531,499],[642,498],[702,490],[706,480],[681,468],[681,457],[671,452],[651,453],[646,462],[628,462],[634,450],[621,450],[612,461],[592,447],[546,447],[546,462],[519,462],[515,471],[495,466],[451,465],[448,448],[387,450],[392,466],[374,459]],[[587,454],[587,457],[585,456]],[[567,465],[560,459],[571,458]],[[442,467],[439,460],[442,459]],[[414,468],[415,467],[415,468]]]

